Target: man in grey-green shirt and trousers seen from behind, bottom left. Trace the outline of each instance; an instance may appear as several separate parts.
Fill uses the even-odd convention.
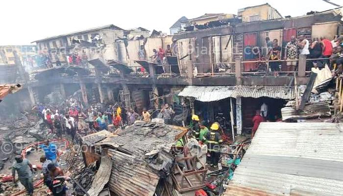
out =
[[[16,163],[12,165],[13,182],[16,183],[16,171],[20,183],[25,187],[29,196],[33,196],[33,179],[32,179],[32,165],[27,159],[23,159],[22,155],[15,157]]]

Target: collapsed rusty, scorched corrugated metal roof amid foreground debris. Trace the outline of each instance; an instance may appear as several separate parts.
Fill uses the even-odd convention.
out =
[[[149,166],[146,153],[162,149],[169,152],[174,142],[186,133],[187,129],[182,127],[135,122],[118,136],[97,142],[101,147],[110,147],[107,153],[113,161],[109,180],[111,192],[118,196],[153,196],[161,171]],[[93,143],[93,139],[87,142]]]

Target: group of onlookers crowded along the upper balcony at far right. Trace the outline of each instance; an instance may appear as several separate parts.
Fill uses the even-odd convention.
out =
[[[270,40],[269,37],[266,37],[266,55],[262,54],[262,49],[259,47],[253,48],[255,60],[258,61],[255,64],[255,70],[266,72],[267,63],[263,61],[270,61],[269,71],[274,72],[275,76],[278,76],[280,71],[293,72],[296,70],[299,55],[305,55],[307,59],[311,59],[307,60],[306,71],[310,71],[312,67],[322,69],[325,64],[335,70],[337,69],[335,67],[336,60],[342,58],[342,42],[343,36],[335,36],[333,40],[322,36],[320,39],[311,40],[311,43],[304,35],[300,35],[298,38],[291,36],[291,41],[283,49],[277,39]],[[286,62],[281,62],[281,59]]]

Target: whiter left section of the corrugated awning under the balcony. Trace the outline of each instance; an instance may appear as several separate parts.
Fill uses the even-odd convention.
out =
[[[209,102],[229,98],[235,86],[186,86],[178,96]]]

